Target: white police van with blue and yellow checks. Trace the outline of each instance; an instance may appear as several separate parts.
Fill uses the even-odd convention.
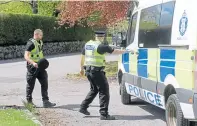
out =
[[[141,0],[118,63],[121,101],[165,109],[168,126],[197,126],[197,0]]]

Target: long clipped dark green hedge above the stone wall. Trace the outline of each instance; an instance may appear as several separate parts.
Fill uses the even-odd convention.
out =
[[[87,41],[93,35],[91,28],[57,26],[54,17],[0,13],[0,45],[23,45],[37,28],[43,30],[44,42]]]

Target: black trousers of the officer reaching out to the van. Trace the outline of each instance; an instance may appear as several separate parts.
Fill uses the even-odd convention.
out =
[[[96,95],[99,93],[100,114],[108,115],[109,106],[109,84],[104,71],[86,71],[86,76],[90,82],[90,92],[81,104],[81,109],[87,109]]]

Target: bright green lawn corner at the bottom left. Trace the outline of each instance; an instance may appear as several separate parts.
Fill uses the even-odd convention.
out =
[[[30,120],[24,111],[0,109],[0,126],[38,126]]]

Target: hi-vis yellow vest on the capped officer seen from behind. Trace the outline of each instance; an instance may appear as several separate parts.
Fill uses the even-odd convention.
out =
[[[99,54],[97,52],[100,41],[92,41],[85,45],[85,66],[103,67],[105,66],[105,54]]]

